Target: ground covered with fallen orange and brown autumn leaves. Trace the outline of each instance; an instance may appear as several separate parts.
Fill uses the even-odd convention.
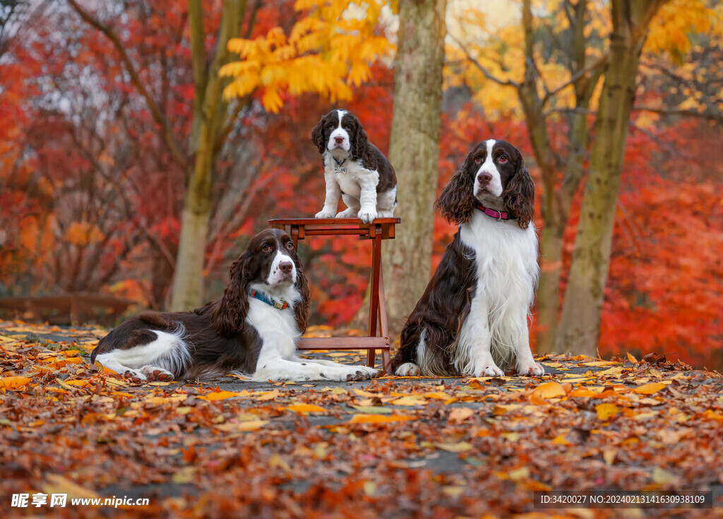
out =
[[[714,518],[723,377],[663,358],[542,358],[544,377],[129,385],[105,332],[0,322],[10,516]],[[359,353],[317,356],[361,363]],[[696,489],[709,510],[536,510],[536,490]],[[148,497],[11,507],[12,494]]]

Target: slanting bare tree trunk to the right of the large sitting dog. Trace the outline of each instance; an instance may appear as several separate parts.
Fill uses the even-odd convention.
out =
[[[667,0],[612,0],[610,59],[555,349],[594,355],[630,109],[649,22]]]

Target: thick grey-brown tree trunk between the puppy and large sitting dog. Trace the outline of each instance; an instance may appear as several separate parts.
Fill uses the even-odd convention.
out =
[[[389,160],[397,173],[401,228],[385,243],[390,327],[398,330],[432,273],[432,231],[442,112],[446,0],[400,0]]]

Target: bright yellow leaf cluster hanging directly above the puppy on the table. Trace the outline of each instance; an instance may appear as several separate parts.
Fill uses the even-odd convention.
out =
[[[351,87],[372,76],[370,67],[388,59],[394,46],[383,34],[382,8],[387,2],[367,0],[299,0],[304,12],[288,35],[281,27],[254,40],[234,38],[228,50],[239,54],[221,68],[234,78],[223,90],[231,99],[260,90],[270,112],[283,107],[283,95],[317,93],[331,101],[351,98]]]

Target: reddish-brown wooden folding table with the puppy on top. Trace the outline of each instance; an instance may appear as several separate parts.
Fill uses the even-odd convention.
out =
[[[382,351],[382,366],[391,372],[389,327],[382,275],[382,240],[394,238],[399,218],[377,218],[362,223],[359,218],[275,218],[273,228],[288,229],[294,245],[307,236],[359,236],[372,241],[372,293],[369,297],[369,335],[367,337],[301,338],[300,350],[368,350],[367,365],[374,367],[376,350]]]

